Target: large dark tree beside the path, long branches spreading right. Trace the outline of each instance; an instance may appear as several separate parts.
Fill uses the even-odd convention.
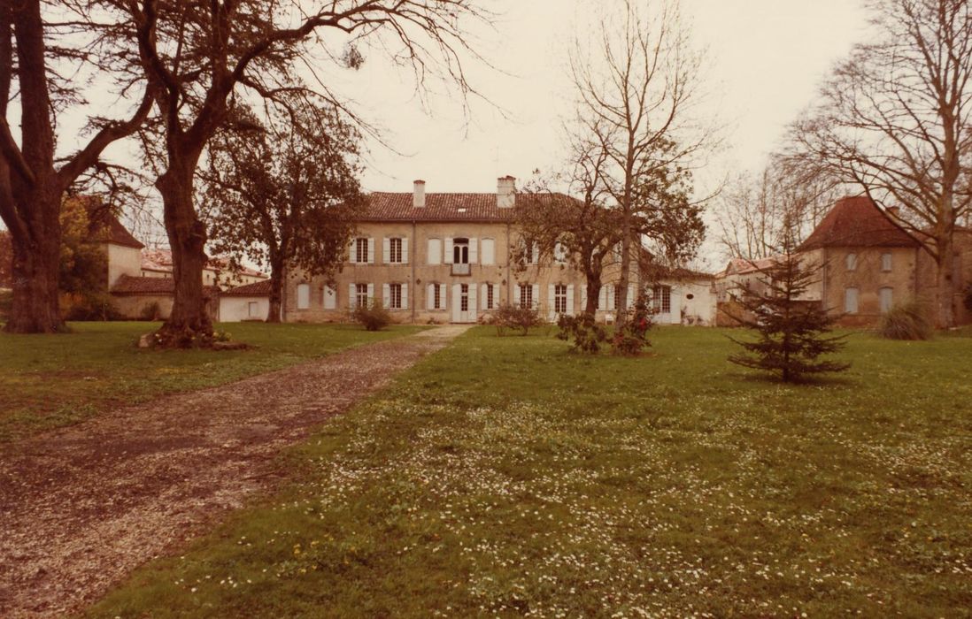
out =
[[[471,0],[113,0],[136,30],[138,68],[160,116],[156,188],[173,256],[175,301],[159,331],[164,345],[205,345],[212,334],[202,297],[205,225],[192,202],[208,141],[226,122],[230,99],[286,105],[284,95],[337,102],[321,65],[359,66],[360,47],[387,51],[421,86],[441,78],[474,93],[463,61],[469,20],[487,21]],[[343,37],[343,56],[323,37]],[[323,55],[323,58],[315,55]],[[147,142],[150,150],[155,147]]]

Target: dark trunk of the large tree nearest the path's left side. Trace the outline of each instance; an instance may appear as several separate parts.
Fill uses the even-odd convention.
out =
[[[208,346],[213,342],[213,322],[206,310],[202,286],[206,227],[192,205],[194,159],[170,157],[169,161],[170,167],[156,180],[156,187],[165,209],[175,298],[169,319],[158,330],[159,344],[178,348]]]

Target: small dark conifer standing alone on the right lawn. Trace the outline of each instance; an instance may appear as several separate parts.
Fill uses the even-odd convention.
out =
[[[785,244],[787,249],[791,244]],[[842,349],[846,336],[827,336],[836,320],[820,302],[806,300],[816,283],[818,265],[805,265],[792,251],[783,253],[773,266],[760,270],[765,289],[742,288],[744,316],[736,319],[758,334],[755,342],[740,342],[744,352],[730,355],[729,361],[778,375],[795,382],[805,375],[844,372],[849,363],[819,357]]]

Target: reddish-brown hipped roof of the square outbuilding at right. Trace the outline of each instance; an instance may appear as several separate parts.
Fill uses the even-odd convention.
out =
[[[867,196],[842,198],[797,249],[916,247],[916,241]]]

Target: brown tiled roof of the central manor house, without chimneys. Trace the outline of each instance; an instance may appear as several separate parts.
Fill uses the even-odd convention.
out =
[[[361,221],[512,221],[514,209],[497,206],[495,193],[427,193],[426,206],[412,206],[410,192],[368,194]]]

